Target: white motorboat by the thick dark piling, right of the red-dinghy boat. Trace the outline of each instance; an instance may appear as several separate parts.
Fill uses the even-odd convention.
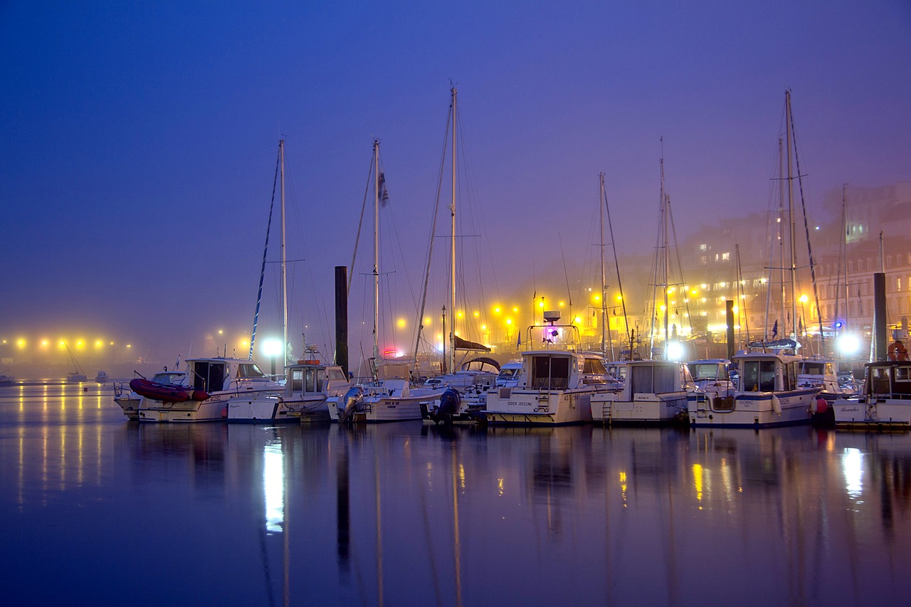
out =
[[[326,399],[343,395],[351,384],[339,365],[321,365],[302,360],[287,368],[281,394],[255,398],[232,398],[228,403],[230,422],[328,422]]]

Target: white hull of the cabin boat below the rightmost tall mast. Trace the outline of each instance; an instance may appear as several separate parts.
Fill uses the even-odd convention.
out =
[[[735,394],[732,406],[715,406],[708,399],[691,398],[691,426],[774,427],[809,424],[815,389],[783,393]],[[717,401],[715,401],[717,402]]]

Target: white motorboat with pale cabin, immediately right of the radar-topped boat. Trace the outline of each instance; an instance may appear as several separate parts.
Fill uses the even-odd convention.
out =
[[[670,360],[627,362],[626,381],[619,391],[591,397],[595,423],[661,425],[680,419],[687,395],[694,389],[687,365]]]

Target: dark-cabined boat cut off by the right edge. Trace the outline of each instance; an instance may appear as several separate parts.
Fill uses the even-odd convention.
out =
[[[911,429],[911,363],[867,363],[858,396],[834,401],[835,427],[858,430]]]

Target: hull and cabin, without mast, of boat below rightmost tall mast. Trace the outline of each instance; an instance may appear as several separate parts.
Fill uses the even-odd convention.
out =
[[[739,386],[732,398],[693,401],[691,426],[774,427],[809,424],[819,388],[798,386],[800,356],[780,352],[736,355]]]

